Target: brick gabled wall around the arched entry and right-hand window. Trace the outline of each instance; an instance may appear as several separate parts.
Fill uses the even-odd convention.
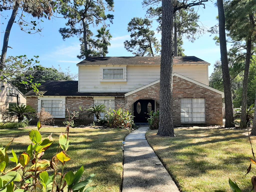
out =
[[[159,102],[159,83],[128,95],[126,106],[133,111],[133,103],[139,99],[153,99]],[[173,119],[180,126],[180,98],[205,98],[206,125],[222,125],[222,98],[219,93],[201,87],[195,83],[173,77]]]

